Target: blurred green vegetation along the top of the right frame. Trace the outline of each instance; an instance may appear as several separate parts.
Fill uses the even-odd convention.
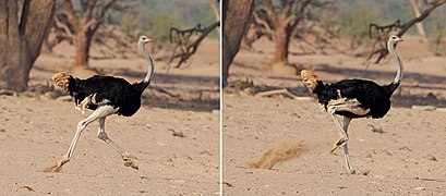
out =
[[[370,23],[385,25],[398,19],[407,22],[415,17],[409,0],[338,0],[333,7],[332,13],[322,22],[338,21],[339,35],[354,40],[372,41],[367,39]],[[446,56],[446,47],[441,44],[446,36],[446,7],[434,10],[423,23],[430,50],[436,56]],[[417,28],[413,26],[407,34],[418,35]]]

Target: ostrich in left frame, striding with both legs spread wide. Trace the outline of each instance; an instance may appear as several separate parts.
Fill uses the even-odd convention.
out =
[[[93,113],[85,120],[79,122],[77,131],[63,158],[45,171],[58,172],[63,164],[71,160],[81,133],[95,120],[99,120],[99,131],[97,136],[121,155],[126,167],[137,169],[131,160],[131,158],[134,157],[122,150],[121,147],[107,136],[105,122],[108,115],[118,114],[131,117],[140,109],[141,95],[149,85],[154,75],[154,62],[144,48],[144,45],[147,42],[153,42],[153,40],[146,36],[141,36],[137,42],[138,50],[148,64],[147,75],[144,81],[140,83],[130,84],[123,78],[99,75],[94,75],[87,79],[80,79],[63,72],[57,73],[52,76],[55,84],[65,89],[70,96],[74,98],[77,110],[84,113],[86,109],[89,109],[93,110]]]

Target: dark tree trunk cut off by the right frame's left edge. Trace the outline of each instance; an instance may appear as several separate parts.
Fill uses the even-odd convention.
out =
[[[240,49],[240,41],[248,30],[254,0],[222,1],[224,42],[222,42],[222,86],[228,83],[229,66]]]

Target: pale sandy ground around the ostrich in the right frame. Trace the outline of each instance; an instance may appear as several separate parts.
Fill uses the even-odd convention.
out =
[[[257,90],[287,88],[298,96],[311,96],[296,74],[268,70],[273,48],[270,42],[260,41],[255,51],[241,51],[231,68],[230,83],[248,79]],[[353,120],[349,128],[350,160],[359,174],[346,173],[340,149],[329,154],[338,131],[315,100],[225,93],[224,193],[445,195],[446,59],[430,54],[415,37],[406,38],[397,51],[406,69],[393,108],[384,119]],[[395,77],[393,61],[369,69],[363,61],[337,53],[290,57],[298,69],[313,70],[328,82],[364,77],[384,84]],[[418,110],[413,105],[437,108]],[[272,170],[251,168],[268,149],[299,144],[302,148],[297,158]]]

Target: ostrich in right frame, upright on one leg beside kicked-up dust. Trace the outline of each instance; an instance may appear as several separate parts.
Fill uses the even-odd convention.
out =
[[[354,173],[354,170],[349,160],[347,145],[349,124],[352,119],[381,119],[390,109],[391,94],[398,88],[402,77],[402,62],[395,51],[395,46],[399,41],[402,39],[398,36],[390,36],[387,41],[387,50],[397,63],[397,75],[388,85],[378,85],[372,81],[357,78],[324,84],[314,73],[306,70],[301,72],[303,83],[313,94],[317,95],[322,109],[332,114],[339,130],[340,138],[335,143],[332,152],[342,146],[347,170],[351,174]],[[343,124],[338,121],[337,115],[343,117]]]

